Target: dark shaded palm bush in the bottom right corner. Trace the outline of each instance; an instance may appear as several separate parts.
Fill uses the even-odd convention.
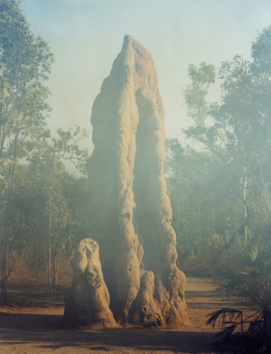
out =
[[[219,322],[223,339],[238,336],[245,353],[271,353],[270,247],[255,245],[238,257],[236,269],[225,268],[216,282],[216,294],[236,299],[236,307],[212,312],[206,324],[214,328]]]

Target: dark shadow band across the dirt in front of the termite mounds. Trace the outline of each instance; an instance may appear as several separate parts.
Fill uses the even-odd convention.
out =
[[[62,316],[47,314],[5,314],[0,312],[1,343],[36,343],[42,348],[64,347],[89,350],[133,350],[183,353],[221,353],[211,350],[214,333],[160,329],[122,328],[88,331],[65,329]]]

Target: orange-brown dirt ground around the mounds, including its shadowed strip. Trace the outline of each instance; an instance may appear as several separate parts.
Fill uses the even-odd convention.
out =
[[[179,329],[126,327],[86,331],[63,327],[65,288],[58,288],[60,295],[54,297],[37,285],[21,285],[18,294],[17,286],[11,292],[9,306],[0,305],[0,353],[231,353],[216,346],[216,332],[205,324],[206,314],[221,307],[213,289],[209,279],[187,278],[191,323]]]

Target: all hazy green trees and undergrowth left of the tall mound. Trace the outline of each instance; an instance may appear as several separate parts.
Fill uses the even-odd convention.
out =
[[[80,237],[72,232],[71,225],[78,224],[73,215],[79,209],[87,210],[87,185],[79,184],[85,180],[82,173],[88,158],[87,150],[79,145],[87,132],[79,127],[59,129],[51,138],[46,127],[50,107],[45,81],[52,61],[46,42],[31,33],[19,1],[0,0],[0,244],[4,300],[14,265],[11,258],[22,257],[32,276],[42,274],[43,280],[56,284],[60,250],[70,250],[70,244]],[[66,160],[74,164],[73,175],[65,171]],[[68,193],[69,188],[72,193]],[[71,197],[77,193],[82,198],[80,208]]]

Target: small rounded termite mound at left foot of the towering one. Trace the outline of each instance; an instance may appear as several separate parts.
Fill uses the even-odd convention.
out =
[[[79,243],[72,268],[72,287],[65,298],[65,324],[88,328],[118,326],[109,308],[110,296],[96,241],[84,239]]]

